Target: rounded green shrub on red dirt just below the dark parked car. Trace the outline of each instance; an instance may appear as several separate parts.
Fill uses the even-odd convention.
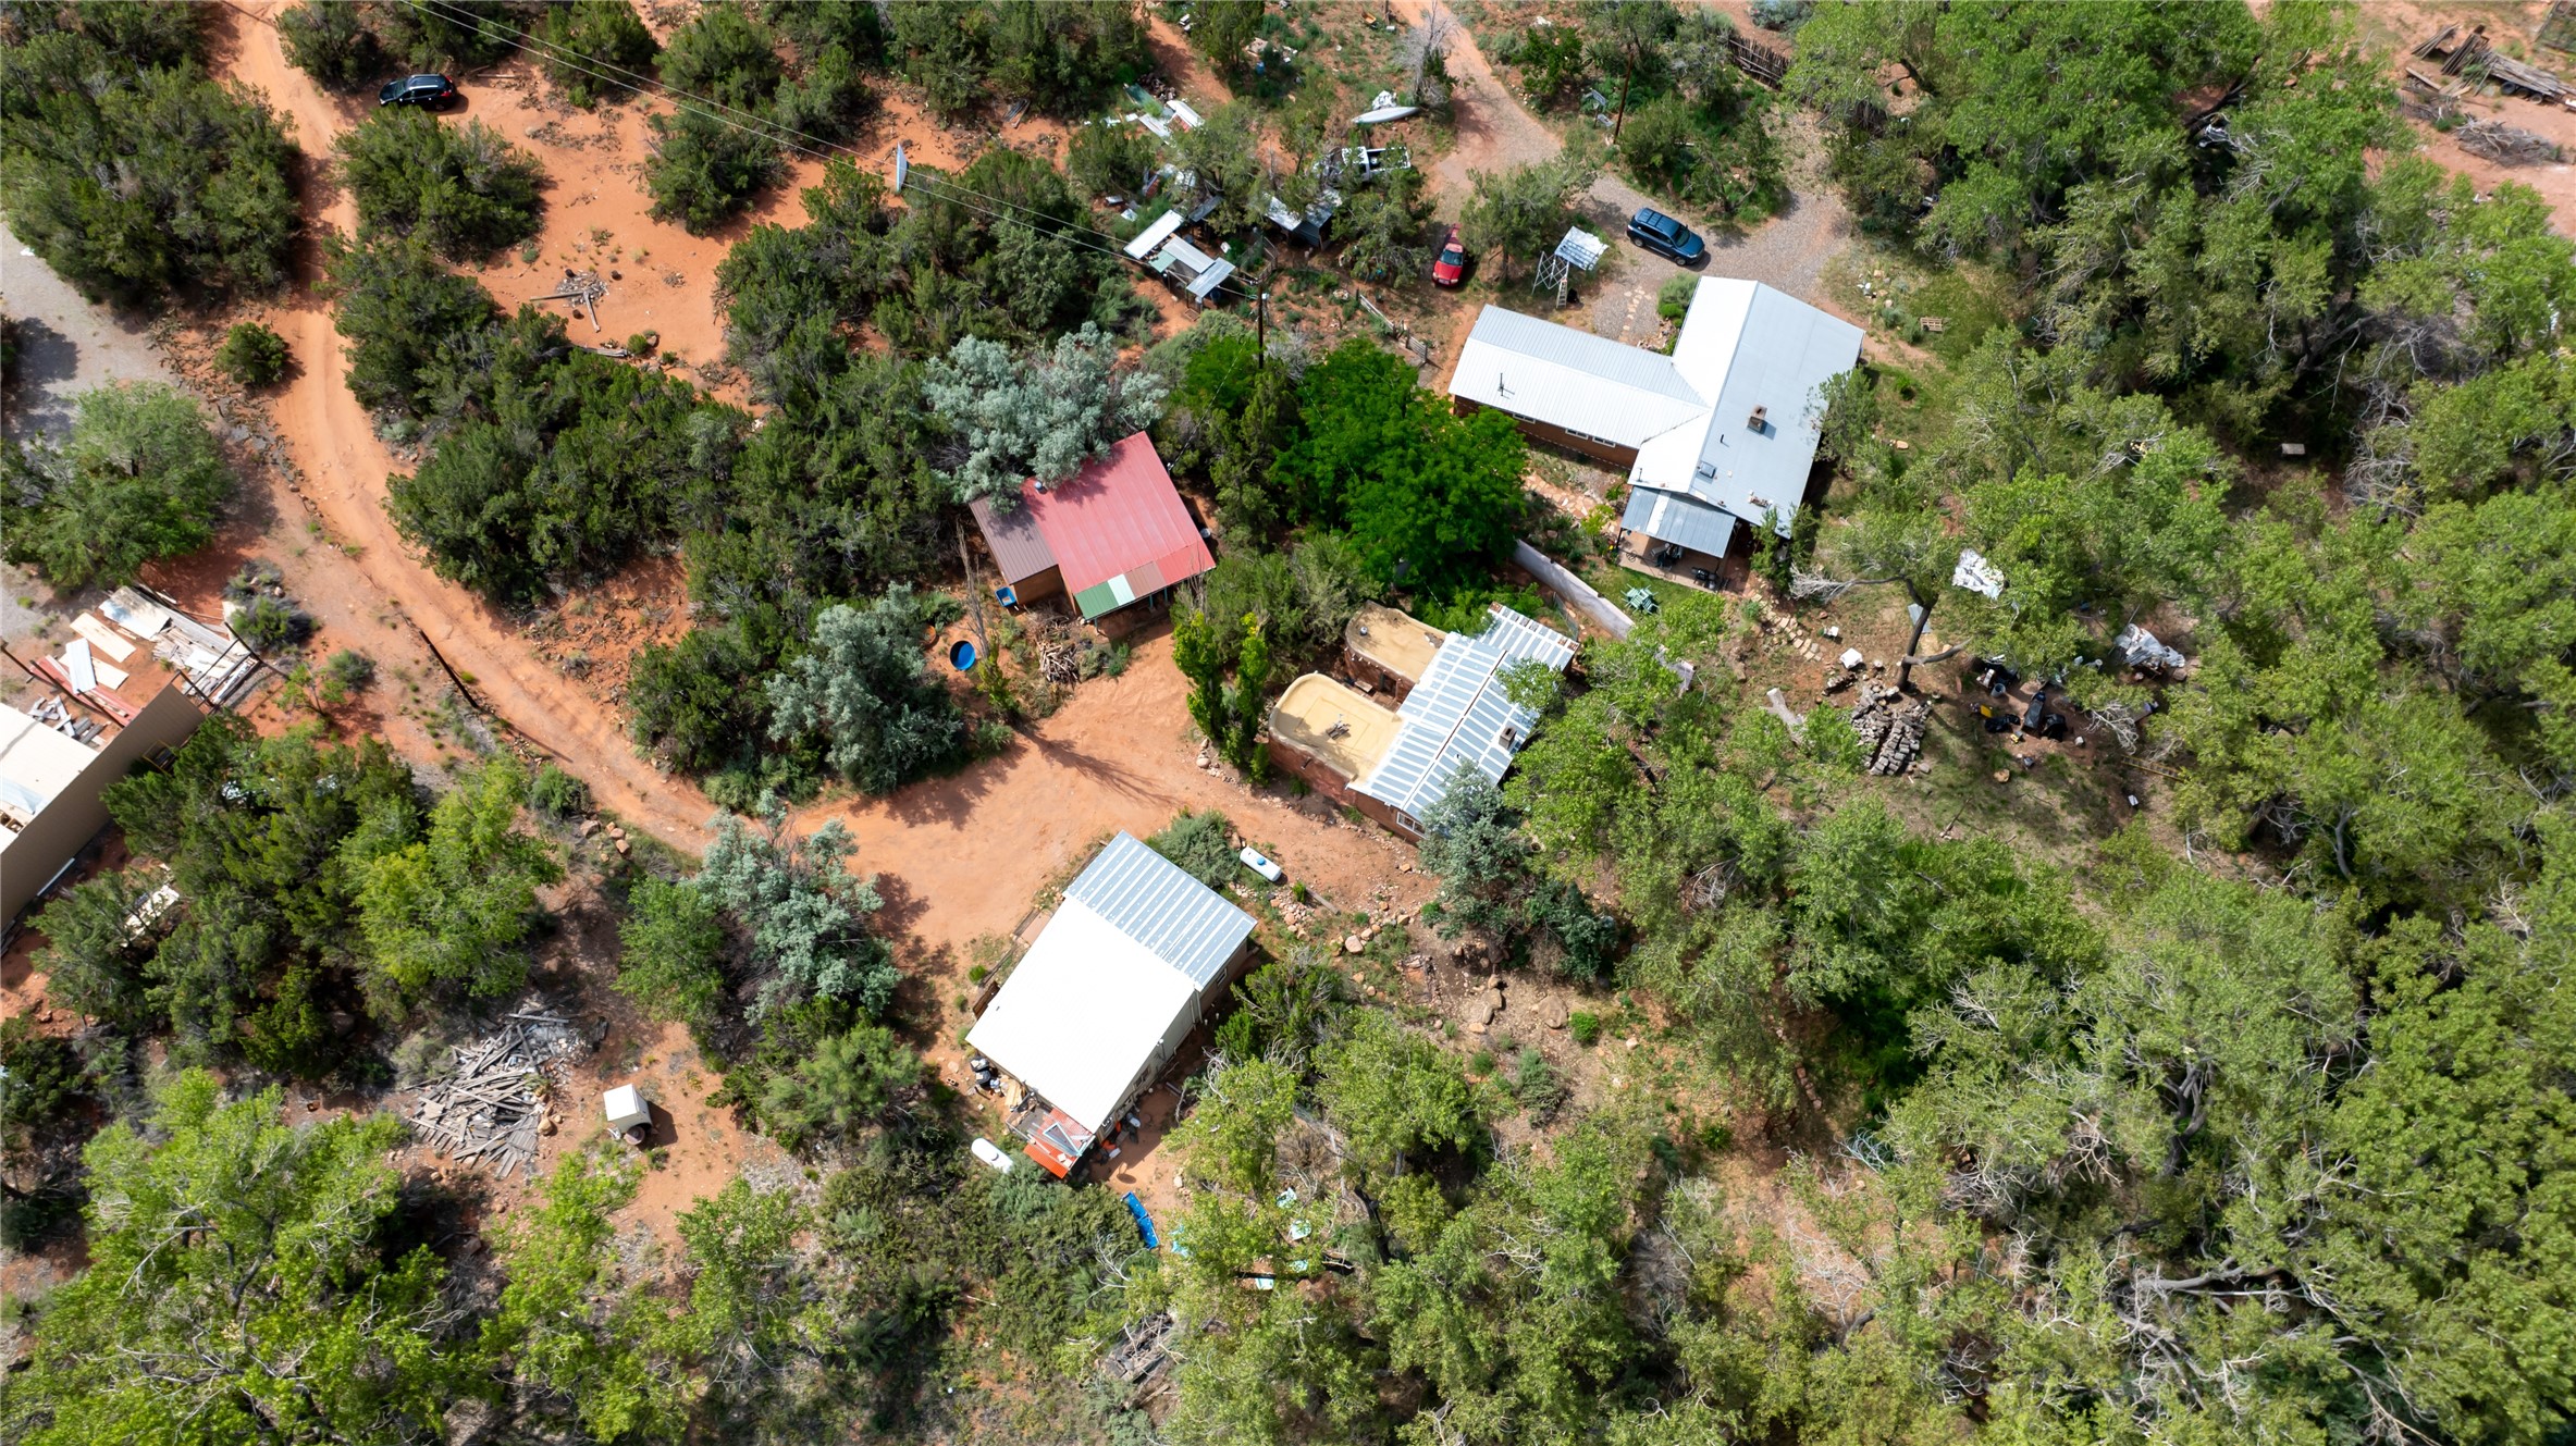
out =
[[[361,237],[420,237],[451,260],[471,260],[536,235],[544,173],[482,121],[448,126],[412,106],[384,106],[335,149]]]

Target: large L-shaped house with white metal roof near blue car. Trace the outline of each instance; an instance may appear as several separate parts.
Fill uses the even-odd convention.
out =
[[[1486,307],[1450,397],[1628,467],[1625,531],[1723,557],[1736,523],[1770,516],[1788,531],[1816,464],[1821,387],[1857,361],[1852,322],[1703,276],[1672,356]]]

